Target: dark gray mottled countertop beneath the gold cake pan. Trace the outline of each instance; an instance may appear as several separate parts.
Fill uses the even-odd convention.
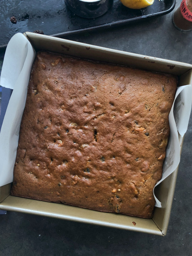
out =
[[[172,24],[172,13],[132,25],[65,38],[192,64],[192,31],[177,30]],[[183,144],[172,212],[165,237],[7,212],[6,215],[0,215],[0,255],[191,255],[191,147],[192,116]]]

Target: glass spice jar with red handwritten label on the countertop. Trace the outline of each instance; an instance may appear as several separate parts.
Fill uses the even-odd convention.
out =
[[[179,30],[192,30],[192,0],[182,0],[173,14],[173,23]]]

